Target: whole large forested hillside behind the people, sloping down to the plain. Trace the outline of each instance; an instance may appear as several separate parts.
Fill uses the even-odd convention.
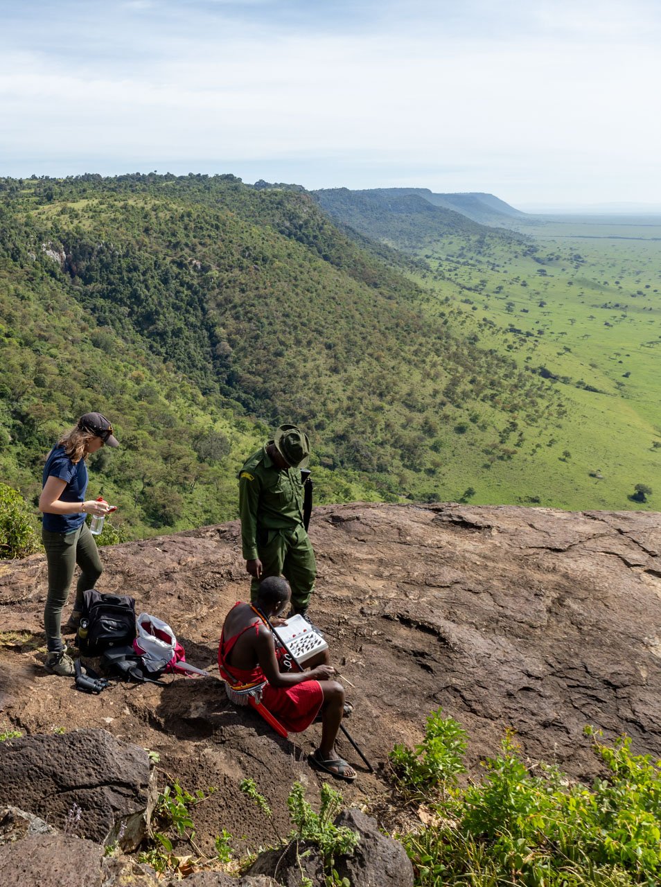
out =
[[[322,498],[429,500],[463,489],[457,449],[484,459],[468,428],[508,461],[517,416],[563,410],[306,192],[155,174],[0,189],[0,466],[28,496],[88,409],[120,429],[92,477],[135,531],[232,516],[237,465],[279,421],[310,430]]]

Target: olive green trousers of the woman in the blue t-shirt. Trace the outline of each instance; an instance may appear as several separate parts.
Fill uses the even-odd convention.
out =
[[[70,533],[42,530],[42,542],[48,561],[48,596],[43,610],[43,627],[46,630],[46,644],[51,652],[62,649],[59,633],[62,608],[68,600],[75,565],[78,564],[82,571],[75,586],[74,609],[78,611],[83,609],[83,592],[96,585],[103,567],[97,544],[86,523]]]

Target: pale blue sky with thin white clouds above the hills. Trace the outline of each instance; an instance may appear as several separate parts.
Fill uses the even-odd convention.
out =
[[[0,0],[0,176],[661,210],[658,0]]]

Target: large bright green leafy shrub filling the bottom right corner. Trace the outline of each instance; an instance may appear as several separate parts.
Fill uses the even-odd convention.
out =
[[[426,736],[405,758],[413,775],[428,745]],[[428,791],[435,819],[403,837],[416,885],[657,887],[661,761],[634,755],[626,736],[610,746],[595,734],[593,748],[609,773],[589,788],[555,767],[530,773],[507,734],[500,754],[484,762],[481,782],[436,801]]]

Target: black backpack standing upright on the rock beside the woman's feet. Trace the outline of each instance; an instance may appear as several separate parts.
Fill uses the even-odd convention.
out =
[[[78,648],[89,656],[113,647],[126,647],[136,637],[136,601],[128,594],[83,592]],[[85,622],[87,624],[85,625]]]

